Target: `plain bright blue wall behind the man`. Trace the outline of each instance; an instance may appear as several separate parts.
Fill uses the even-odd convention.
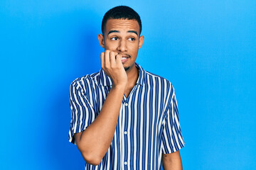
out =
[[[255,169],[254,0],[1,0],[0,169],[84,169],[68,89],[100,69],[97,35],[117,5],[142,18],[137,62],[174,84],[183,169]]]

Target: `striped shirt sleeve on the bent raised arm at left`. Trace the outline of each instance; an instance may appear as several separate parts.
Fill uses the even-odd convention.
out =
[[[95,120],[95,111],[85,96],[80,84],[70,85],[71,121],[68,134],[69,142],[76,144],[74,134],[85,130]]]

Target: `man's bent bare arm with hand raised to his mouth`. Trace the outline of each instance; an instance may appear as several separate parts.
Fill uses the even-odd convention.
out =
[[[117,126],[119,110],[122,105],[127,74],[117,52],[102,52],[101,65],[112,79],[113,85],[97,118],[86,130],[76,133],[75,140],[82,157],[89,164],[100,164],[110,147]]]

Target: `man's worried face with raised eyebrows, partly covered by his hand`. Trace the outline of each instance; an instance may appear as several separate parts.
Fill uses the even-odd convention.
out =
[[[138,50],[142,47],[144,37],[139,37],[139,23],[136,20],[107,20],[104,38],[99,35],[100,45],[105,50],[118,52],[126,71],[135,68]]]

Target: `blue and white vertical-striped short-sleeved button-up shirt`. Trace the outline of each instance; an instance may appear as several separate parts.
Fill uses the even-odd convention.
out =
[[[162,169],[162,154],[184,146],[174,87],[139,64],[136,67],[139,78],[129,96],[123,96],[111,145],[99,165],[85,163],[85,169]],[[102,69],[72,82],[70,142],[75,144],[73,135],[95,120],[111,87]]]

